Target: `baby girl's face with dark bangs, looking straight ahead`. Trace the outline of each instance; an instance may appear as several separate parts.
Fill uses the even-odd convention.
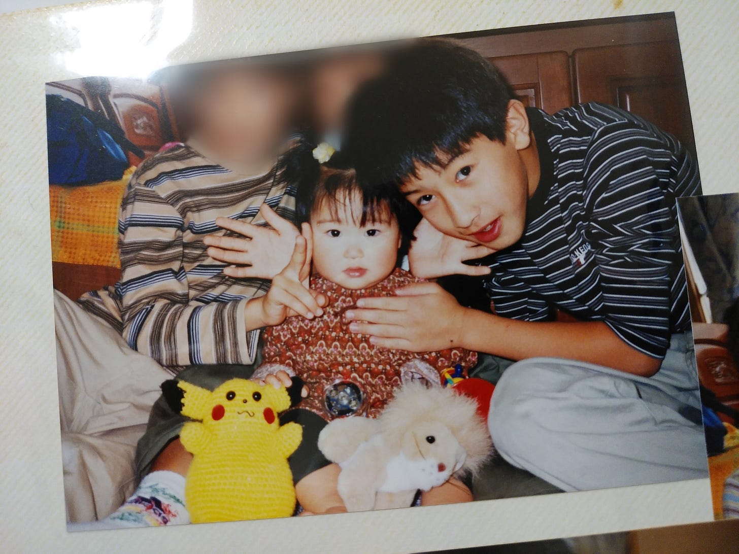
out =
[[[339,197],[341,199],[341,196]],[[362,204],[352,194],[331,210],[327,199],[310,216],[313,269],[345,289],[372,287],[390,275],[398,259],[401,233],[395,217],[360,225]]]

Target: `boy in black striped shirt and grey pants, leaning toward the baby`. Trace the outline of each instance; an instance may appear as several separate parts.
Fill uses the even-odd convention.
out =
[[[480,55],[426,40],[361,89],[344,144],[368,191],[423,216],[412,271],[480,275],[494,304],[415,284],[358,301],[353,332],[524,360],[488,425],[504,459],[563,490],[707,476],[675,208],[700,180],[675,137],[602,104],[525,109]]]

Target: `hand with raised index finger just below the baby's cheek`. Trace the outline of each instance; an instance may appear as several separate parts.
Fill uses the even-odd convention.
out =
[[[262,323],[265,326],[279,325],[293,315],[308,319],[323,315],[326,298],[309,288],[313,236],[307,223],[303,224],[303,233],[295,239],[290,262],[274,276],[272,287],[262,297]]]

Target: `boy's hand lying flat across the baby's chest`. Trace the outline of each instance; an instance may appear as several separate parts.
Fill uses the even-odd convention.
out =
[[[351,332],[388,349],[433,352],[460,345],[466,308],[435,283],[414,283],[395,296],[360,298],[345,317]]]

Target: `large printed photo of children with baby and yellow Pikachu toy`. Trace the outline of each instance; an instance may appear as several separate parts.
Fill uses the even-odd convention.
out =
[[[672,13],[46,95],[68,530],[709,475]]]

